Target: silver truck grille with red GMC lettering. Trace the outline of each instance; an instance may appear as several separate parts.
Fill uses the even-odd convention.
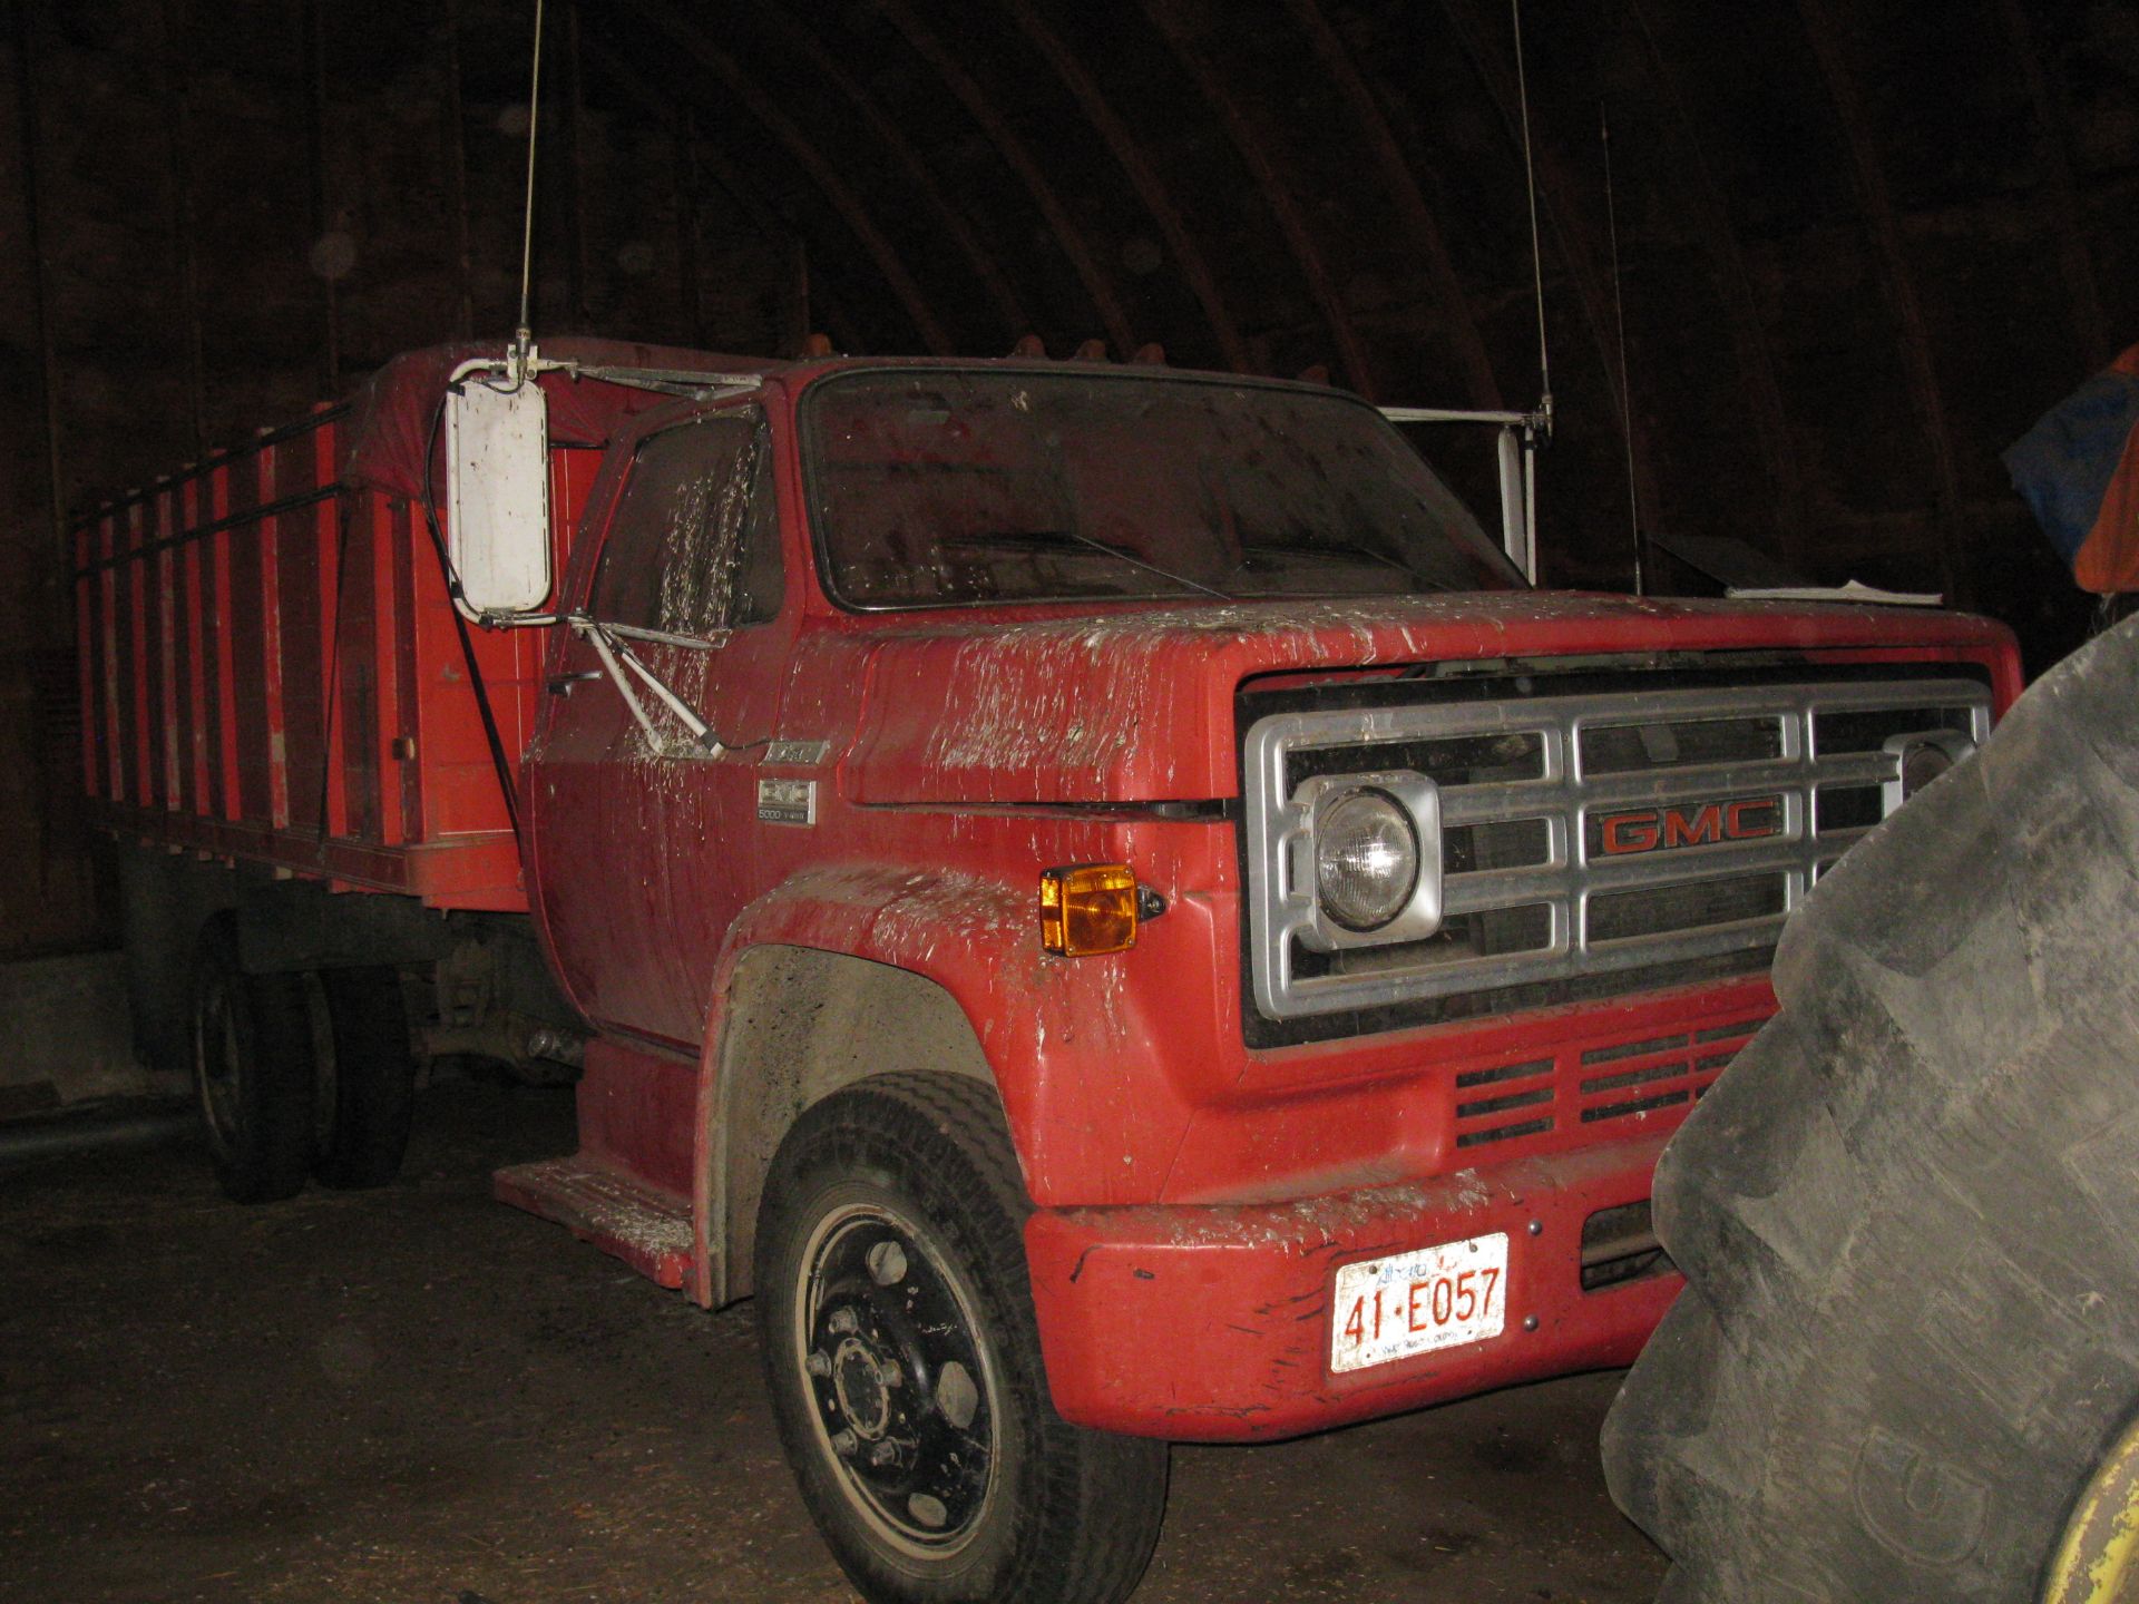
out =
[[[1273,712],[1243,746],[1256,1007],[1311,1018],[1771,947],[1897,806],[1908,740],[1987,734],[1989,691],[1957,678]],[[1429,935],[1333,939],[1318,913],[1311,796],[1348,774],[1431,781]]]

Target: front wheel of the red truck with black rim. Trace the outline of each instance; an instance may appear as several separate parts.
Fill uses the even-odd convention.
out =
[[[1166,1444],[1048,1399],[990,1086],[898,1074],[811,1108],[757,1230],[766,1379],[811,1516],[877,1604],[1110,1604],[1166,1508]]]

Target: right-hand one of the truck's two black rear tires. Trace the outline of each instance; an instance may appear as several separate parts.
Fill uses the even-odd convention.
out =
[[[327,969],[319,986],[327,999],[334,1074],[312,1174],[323,1187],[383,1187],[400,1174],[415,1110],[415,1048],[400,971]]]

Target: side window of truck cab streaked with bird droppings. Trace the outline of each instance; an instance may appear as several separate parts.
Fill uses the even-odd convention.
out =
[[[781,592],[764,419],[729,413],[646,441],[595,567],[595,616],[710,635],[776,616]]]

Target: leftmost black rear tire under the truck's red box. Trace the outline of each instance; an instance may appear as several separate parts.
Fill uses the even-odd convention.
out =
[[[237,922],[201,928],[193,965],[193,1086],[216,1181],[235,1202],[304,1189],[312,1159],[312,1020],[302,975],[237,967]]]

